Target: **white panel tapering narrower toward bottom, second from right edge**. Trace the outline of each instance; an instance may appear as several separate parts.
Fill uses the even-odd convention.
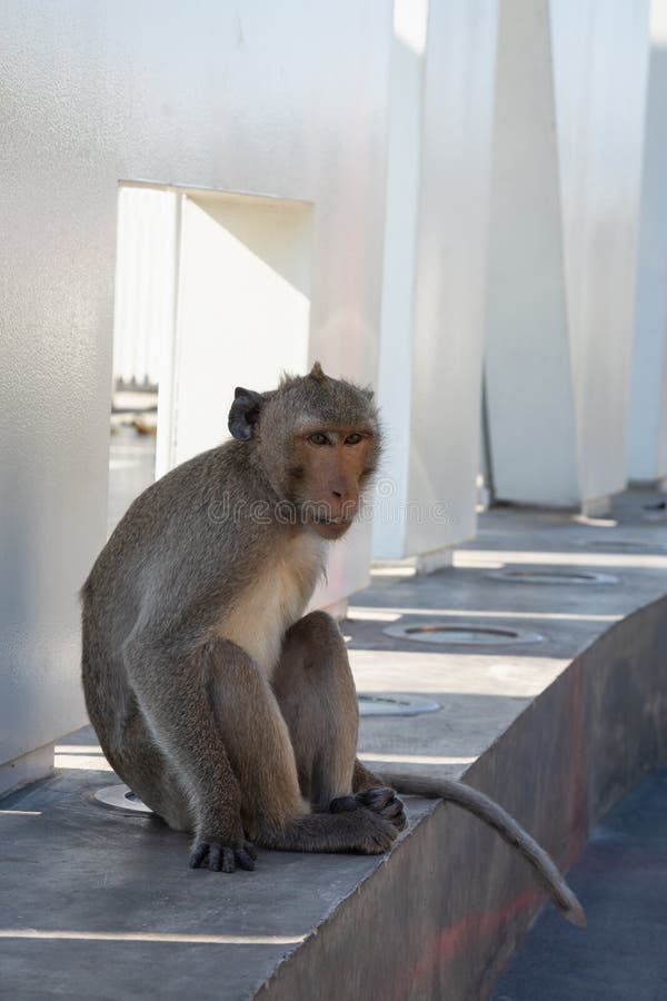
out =
[[[627,479],[647,0],[552,0],[556,127],[581,500]]]

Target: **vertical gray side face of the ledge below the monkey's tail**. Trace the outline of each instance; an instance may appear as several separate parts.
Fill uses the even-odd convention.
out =
[[[564,869],[595,822],[667,759],[666,653],[667,597],[581,653],[465,774]],[[497,835],[438,805],[258,997],[478,1001],[542,901]]]

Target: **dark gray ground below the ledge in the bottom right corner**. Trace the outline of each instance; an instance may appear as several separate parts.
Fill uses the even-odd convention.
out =
[[[667,767],[596,827],[569,882],[585,934],[545,909],[492,1001],[667,998]]]

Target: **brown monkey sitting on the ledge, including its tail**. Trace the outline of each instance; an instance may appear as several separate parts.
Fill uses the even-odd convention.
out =
[[[375,775],[338,624],[306,608],[358,514],[381,429],[370,389],[325,374],[238,387],[231,438],[130,505],[81,589],[82,684],[117,774],[189,864],[252,870],[258,849],[387,852],[398,793],[471,811],[532,865],[563,914],[580,903],[547,853],[461,782]]]

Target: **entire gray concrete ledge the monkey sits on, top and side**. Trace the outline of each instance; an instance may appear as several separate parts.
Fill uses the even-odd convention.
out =
[[[361,756],[465,774],[571,864],[603,813],[667,759],[667,522],[645,508],[658,499],[630,493],[604,519],[498,508],[451,569],[382,567],[342,626],[359,690],[426,694],[441,710],[364,720]],[[488,576],[502,566],[619,583]],[[382,632],[431,618],[545,640],[472,653]],[[89,732],[57,764],[0,805],[11,997],[480,1001],[541,902],[492,832],[422,801],[385,859],[262,852],[252,874],[190,872],[185,836],[91,802],[112,775]]]

